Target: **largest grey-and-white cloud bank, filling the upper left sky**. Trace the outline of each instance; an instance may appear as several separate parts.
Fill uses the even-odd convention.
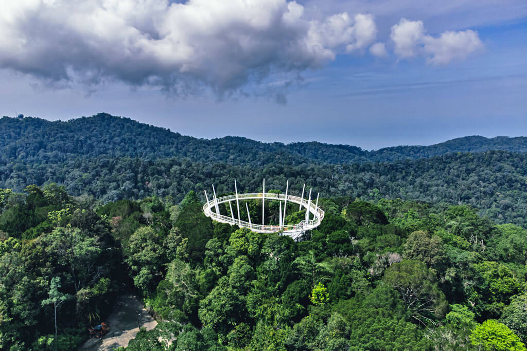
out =
[[[114,79],[222,95],[321,67],[376,32],[371,15],[313,20],[287,0],[17,0],[2,4],[0,68],[51,83]]]

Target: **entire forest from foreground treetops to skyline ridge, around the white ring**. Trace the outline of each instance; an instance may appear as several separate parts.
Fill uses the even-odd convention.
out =
[[[526,350],[527,138],[365,151],[107,114],[4,117],[0,135],[0,349],[74,349],[132,292],[160,323],[131,351]],[[262,178],[320,192],[317,230],[203,215],[211,184]]]

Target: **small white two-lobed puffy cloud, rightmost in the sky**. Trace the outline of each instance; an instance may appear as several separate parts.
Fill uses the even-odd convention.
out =
[[[439,37],[425,35],[422,21],[408,21],[401,18],[392,26],[391,38],[394,52],[401,58],[416,55],[425,56],[427,62],[447,64],[455,58],[464,59],[477,51],[483,44],[476,32],[467,31],[441,33]]]

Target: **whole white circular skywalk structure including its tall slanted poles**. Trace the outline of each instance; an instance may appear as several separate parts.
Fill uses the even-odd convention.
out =
[[[306,190],[306,184],[302,187],[302,195],[300,197],[293,196],[288,194],[289,190],[289,180],[286,183],[286,193],[284,194],[275,194],[275,193],[266,193],[265,192],[265,179],[264,179],[264,185],[262,187],[261,193],[245,193],[245,194],[238,194],[238,186],[236,184],[236,180],[234,182],[234,189],[235,194],[234,195],[227,195],[222,197],[216,196],[216,189],[214,188],[214,185],[212,185],[212,199],[209,200],[209,195],[207,194],[207,190],[204,190],[205,192],[205,198],[207,199],[207,202],[205,205],[203,205],[203,213],[210,217],[212,220],[216,220],[217,222],[221,223],[227,223],[230,225],[237,225],[240,228],[248,228],[252,232],[256,233],[281,233],[283,235],[288,235],[294,239],[297,239],[302,234],[306,232],[306,230],[311,230],[320,225],[320,222],[322,219],[324,219],[324,211],[318,207],[318,197],[319,194],[317,194],[316,202],[313,202],[311,200],[311,190],[309,189],[309,196],[307,199],[304,198],[304,192]],[[259,223],[252,223],[251,221],[251,215],[249,213],[249,206],[247,205],[247,202],[245,203],[245,208],[243,206],[240,209],[240,202],[243,202],[245,200],[251,200],[251,199],[261,199],[262,206],[262,222]],[[279,224],[278,225],[271,225],[265,223],[265,202],[268,201],[278,201],[279,205]],[[222,215],[220,213],[220,207],[221,204],[229,204],[228,214],[229,215]],[[236,204],[236,212],[233,211],[233,204]],[[286,208],[287,206],[297,206],[298,210],[301,210],[302,208],[306,209],[306,217],[305,219],[301,220],[298,223],[295,224],[285,224],[286,222]]]

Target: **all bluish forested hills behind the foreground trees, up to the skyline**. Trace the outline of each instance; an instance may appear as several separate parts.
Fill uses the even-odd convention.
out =
[[[324,196],[466,204],[496,223],[527,226],[527,138],[465,137],[432,146],[364,151],[321,143],[197,139],[99,114],[70,122],[0,119],[0,187],[63,184],[101,204],[147,196],[182,200],[215,184],[255,191],[263,177]],[[297,190],[298,188],[294,188]],[[91,197],[91,199],[90,199]]]

